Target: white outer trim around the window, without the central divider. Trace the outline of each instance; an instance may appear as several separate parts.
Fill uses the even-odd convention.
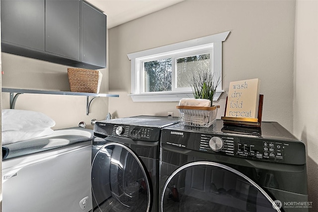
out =
[[[225,41],[230,34],[230,31],[210,35],[198,39],[175,43],[167,46],[162,46],[154,49],[149,49],[141,52],[128,54],[128,59],[131,60],[131,98],[134,102],[156,102],[156,101],[179,101],[181,98],[194,98],[192,91],[167,91],[167,92],[149,92],[142,93],[140,79],[140,63],[142,58],[154,56],[168,52],[179,52],[187,48],[213,45],[213,71],[220,74],[222,78],[222,42]],[[217,87],[217,92],[213,101],[217,101],[221,94],[222,82]]]

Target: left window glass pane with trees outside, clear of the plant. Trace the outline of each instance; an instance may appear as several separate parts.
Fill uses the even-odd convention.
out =
[[[172,59],[144,63],[144,92],[171,91]]]

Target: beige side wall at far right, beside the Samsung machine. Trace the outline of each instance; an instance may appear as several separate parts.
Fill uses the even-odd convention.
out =
[[[294,134],[306,143],[310,201],[318,211],[318,1],[297,0]],[[314,210],[313,210],[314,211]]]

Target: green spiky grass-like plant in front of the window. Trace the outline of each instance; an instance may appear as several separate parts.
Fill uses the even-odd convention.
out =
[[[209,70],[194,71],[189,76],[189,83],[192,87],[194,98],[209,99],[213,105],[213,97],[221,82],[221,75],[211,73]]]

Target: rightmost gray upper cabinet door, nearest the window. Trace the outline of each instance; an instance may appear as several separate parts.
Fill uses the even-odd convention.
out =
[[[83,1],[82,62],[106,67],[106,15]]]

